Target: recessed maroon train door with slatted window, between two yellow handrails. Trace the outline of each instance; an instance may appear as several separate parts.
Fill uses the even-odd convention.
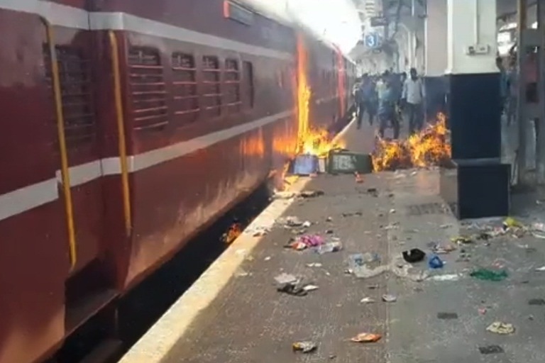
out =
[[[47,29],[57,180],[67,229],[65,330],[70,333],[116,296],[106,267],[103,152],[97,117],[96,44],[89,29]]]

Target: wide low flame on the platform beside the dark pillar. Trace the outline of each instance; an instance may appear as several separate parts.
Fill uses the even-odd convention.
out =
[[[451,157],[446,133],[446,116],[439,113],[436,123],[406,140],[380,139],[373,154],[373,167],[378,172],[442,164]]]

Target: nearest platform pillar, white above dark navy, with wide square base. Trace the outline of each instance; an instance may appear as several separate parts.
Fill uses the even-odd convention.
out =
[[[510,165],[500,162],[500,72],[496,67],[496,2],[447,0],[448,118],[451,169],[441,195],[458,218],[505,216]]]

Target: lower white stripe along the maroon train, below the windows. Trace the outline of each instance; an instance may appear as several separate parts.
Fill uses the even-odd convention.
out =
[[[251,130],[263,127],[269,123],[279,121],[294,115],[294,111],[285,111],[275,115],[260,118],[250,123],[237,125],[226,130],[216,131],[207,135],[183,141],[175,145],[161,147],[159,149],[143,152],[128,157],[129,172],[153,167],[163,162],[174,160],[192,152],[201,150],[221,141],[229,140],[238,135],[243,135]],[[86,164],[70,167],[70,186],[85,184],[103,175],[116,175],[121,173],[121,160],[119,157],[108,157],[95,160]],[[40,181],[36,184],[24,186],[21,189],[10,191],[0,195],[0,220],[16,216],[19,213],[29,211],[45,203],[50,203],[59,198],[60,171],[55,177]]]

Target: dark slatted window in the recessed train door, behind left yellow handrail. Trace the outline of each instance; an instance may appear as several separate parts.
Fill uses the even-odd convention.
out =
[[[65,138],[69,149],[88,143],[96,137],[93,84],[90,60],[82,51],[70,45],[55,47],[59,65],[62,111],[65,118]],[[44,47],[46,77],[53,89],[50,50]]]

